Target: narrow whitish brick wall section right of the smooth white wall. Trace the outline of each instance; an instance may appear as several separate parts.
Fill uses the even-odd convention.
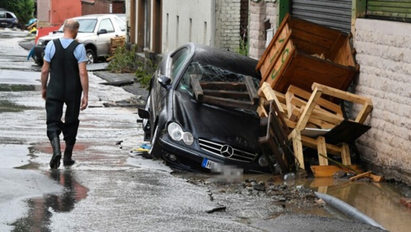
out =
[[[215,10],[215,46],[230,51],[238,50],[241,0],[217,0]]]

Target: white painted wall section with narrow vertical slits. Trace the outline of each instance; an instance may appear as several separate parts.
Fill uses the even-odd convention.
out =
[[[173,51],[189,42],[212,45],[212,37],[214,36],[213,0],[166,0],[163,1],[162,14],[163,53]],[[205,23],[207,23],[206,31],[204,31]]]

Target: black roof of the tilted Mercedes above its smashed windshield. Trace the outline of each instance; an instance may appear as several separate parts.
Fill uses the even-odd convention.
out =
[[[255,71],[258,63],[255,59],[206,45],[192,44],[191,46],[195,49],[193,61],[261,79],[259,73]]]

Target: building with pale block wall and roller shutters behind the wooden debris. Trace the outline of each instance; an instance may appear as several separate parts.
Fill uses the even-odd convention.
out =
[[[360,73],[355,93],[368,96],[372,128],[357,140],[361,157],[386,179],[411,185],[411,6],[393,1],[250,0],[249,55],[265,50],[267,29],[285,13],[352,33]],[[352,114],[359,108],[353,106]]]

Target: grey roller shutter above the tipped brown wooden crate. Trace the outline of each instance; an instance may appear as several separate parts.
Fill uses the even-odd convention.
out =
[[[292,0],[291,14],[305,20],[351,32],[352,0]]]

